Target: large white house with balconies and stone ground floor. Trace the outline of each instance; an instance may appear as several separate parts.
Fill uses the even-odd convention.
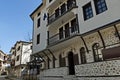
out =
[[[30,15],[38,78],[119,80],[119,8],[120,0],[43,0]]]

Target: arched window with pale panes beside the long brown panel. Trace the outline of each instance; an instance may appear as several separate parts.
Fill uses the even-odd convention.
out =
[[[93,50],[94,61],[95,62],[102,61],[102,53],[99,43],[93,44],[92,50]]]

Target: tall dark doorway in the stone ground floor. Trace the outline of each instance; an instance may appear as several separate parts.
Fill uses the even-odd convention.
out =
[[[73,52],[68,53],[68,67],[69,67],[69,75],[75,75],[75,64]]]

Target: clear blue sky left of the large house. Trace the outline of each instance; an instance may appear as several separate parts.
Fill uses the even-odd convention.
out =
[[[28,41],[32,36],[30,14],[41,0],[0,0],[0,50],[9,54],[16,41]]]

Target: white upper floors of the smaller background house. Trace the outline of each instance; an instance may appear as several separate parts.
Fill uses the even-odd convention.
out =
[[[17,41],[10,50],[11,66],[19,66],[30,61],[32,53],[32,42]]]

